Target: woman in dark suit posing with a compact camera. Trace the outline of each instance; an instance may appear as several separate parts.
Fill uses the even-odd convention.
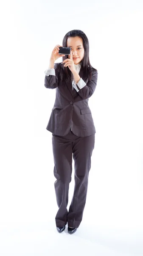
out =
[[[73,234],[79,227],[87,197],[88,175],[95,143],[95,126],[88,106],[97,84],[98,72],[89,60],[89,41],[81,30],[71,30],[62,47],[71,47],[70,55],[59,55],[57,44],[45,71],[45,87],[56,88],[56,99],[46,129],[52,132],[54,183],[59,210],[56,228],[59,233],[68,223]],[[63,57],[62,63],[54,63]],[[75,188],[67,211],[69,183],[75,164]]]

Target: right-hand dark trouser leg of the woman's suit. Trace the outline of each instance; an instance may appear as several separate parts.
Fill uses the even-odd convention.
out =
[[[73,134],[73,137],[75,135]],[[91,156],[95,144],[95,134],[88,137],[75,137],[73,140],[73,159],[75,162],[75,187],[67,215],[69,227],[79,227],[87,198],[88,175]]]

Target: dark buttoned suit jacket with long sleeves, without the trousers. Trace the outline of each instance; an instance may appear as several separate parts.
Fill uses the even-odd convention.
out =
[[[86,137],[95,134],[95,125],[91,110],[88,106],[88,99],[93,95],[97,84],[98,72],[92,68],[92,79],[85,77],[83,68],[79,76],[86,85],[77,92],[72,87],[72,81],[66,83],[61,81],[57,70],[62,63],[55,63],[55,76],[45,76],[45,87],[56,88],[56,99],[46,129],[53,134],[65,136],[69,133],[70,127],[76,136]]]

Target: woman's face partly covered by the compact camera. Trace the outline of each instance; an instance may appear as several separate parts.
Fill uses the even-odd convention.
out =
[[[79,64],[79,62],[84,58],[82,38],[79,36],[67,38],[67,47],[71,47],[74,64]],[[68,55],[68,58],[70,58],[70,55]]]

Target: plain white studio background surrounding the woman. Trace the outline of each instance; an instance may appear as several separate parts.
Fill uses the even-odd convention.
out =
[[[0,2],[0,255],[143,255],[142,0]],[[51,51],[81,29],[98,70],[89,99],[95,149],[72,236],[56,231]],[[61,62],[59,58],[56,62]],[[74,163],[69,204],[74,189]]]

